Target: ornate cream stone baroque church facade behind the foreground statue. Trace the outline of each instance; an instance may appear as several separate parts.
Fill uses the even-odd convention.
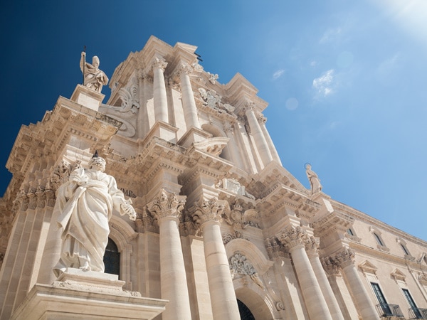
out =
[[[152,36],[110,79],[21,127],[0,199],[0,319],[427,319],[427,242],[281,164],[267,103]],[[102,276],[60,255],[56,191],[97,151],[132,200]],[[98,272],[99,273],[99,272]],[[117,274],[117,275],[115,275]]]

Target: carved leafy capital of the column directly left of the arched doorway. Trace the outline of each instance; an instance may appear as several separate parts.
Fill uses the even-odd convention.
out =
[[[203,196],[194,203],[191,215],[196,223],[202,225],[207,221],[221,222],[225,208],[224,201],[218,201],[217,198],[206,200]]]

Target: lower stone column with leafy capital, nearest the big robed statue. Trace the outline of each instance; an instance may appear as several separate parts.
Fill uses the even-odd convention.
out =
[[[176,196],[162,189],[160,195],[147,206],[159,223],[160,287],[162,299],[169,300],[162,314],[163,320],[191,319],[189,290],[179,237],[179,217],[184,208],[184,199],[184,196]]]

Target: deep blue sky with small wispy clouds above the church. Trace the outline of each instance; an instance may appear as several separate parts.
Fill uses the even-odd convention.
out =
[[[151,35],[198,46],[221,83],[251,81],[283,166],[306,187],[310,162],[332,198],[427,240],[423,0],[7,1],[0,194],[21,124],[70,97],[83,46],[110,77]]]

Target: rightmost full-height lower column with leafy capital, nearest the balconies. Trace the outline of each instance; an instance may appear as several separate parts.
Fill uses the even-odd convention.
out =
[[[354,265],[354,252],[349,249],[345,249],[335,257],[342,267],[342,272],[347,280],[348,287],[352,293],[352,297],[356,302],[359,314],[364,320],[377,320],[379,319],[378,313],[375,310],[374,304],[369,299],[367,289],[362,283],[357,268]]]

